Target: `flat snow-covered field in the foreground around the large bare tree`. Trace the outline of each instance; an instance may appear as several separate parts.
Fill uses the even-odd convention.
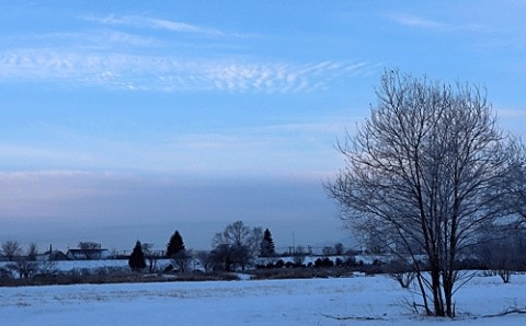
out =
[[[418,300],[418,296],[415,296]],[[385,276],[342,279],[82,284],[0,289],[0,325],[526,325],[526,276],[476,277],[458,318],[415,315]]]

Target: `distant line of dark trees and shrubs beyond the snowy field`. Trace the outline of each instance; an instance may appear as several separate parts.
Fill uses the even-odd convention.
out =
[[[487,275],[500,276],[508,282],[513,272],[526,270],[526,231],[517,225],[484,225],[477,232],[478,245],[469,252],[462,252],[456,261],[457,269],[481,269]],[[82,241],[78,243],[81,259],[100,259],[101,244]],[[283,254],[276,253],[276,246],[268,229],[249,228],[242,221],[228,224],[221,232],[215,234],[210,251],[187,249],[179,230],[169,237],[165,251],[153,251],[152,244],[137,241],[128,259],[129,270],[135,275],[145,271],[150,275],[178,273],[192,275],[195,270],[202,272],[248,271],[260,270],[264,277],[319,277],[322,269],[340,272],[362,271],[366,273],[387,273],[404,288],[414,280],[415,273],[409,256],[393,256],[381,242],[381,237],[364,242],[362,251],[345,249],[342,244],[320,247],[322,256],[316,258],[312,247],[296,246]],[[16,241],[5,241],[1,244],[0,254],[5,260],[0,266],[0,279],[15,275],[19,279],[33,277],[57,276],[59,271],[54,265],[56,251],[39,253],[36,244],[26,248]],[[370,261],[364,263],[359,255],[371,255]],[[66,257],[62,255],[62,258]],[[305,261],[309,257],[309,261]],[[403,258],[405,257],[405,258]],[[159,259],[169,259],[167,265],[158,266]],[[315,259],[316,258],[316,259]],[[421,257],[422,270],[430,266],[425,257]],[[335,269],[334,269],[335,268]],[[333,272],[334,272],[333,271]],[[99,270],[95,276],[105,278],[110,273],[123,273],[115,269]],[[329,276],[329,275],[328,275]],[[79,281],[94,277],[88,270],[71,270],[72,279]]]

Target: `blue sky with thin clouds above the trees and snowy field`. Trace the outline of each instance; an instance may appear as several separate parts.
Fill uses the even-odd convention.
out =
[[[526,136],[523,1],[0,0],[0,242],[352,242],[323,190],[386,69]]]

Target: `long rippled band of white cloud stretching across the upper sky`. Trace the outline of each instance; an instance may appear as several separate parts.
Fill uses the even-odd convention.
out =
[[[20,49],[0,53],[0,80],[164,92],[309,92],[361,73],[366,62],[290,63]]]

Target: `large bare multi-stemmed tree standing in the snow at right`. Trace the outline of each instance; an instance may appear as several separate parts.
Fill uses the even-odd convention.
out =
[[[503,186],[524,181],[523,145],[476,86],[391,70],[376,93],[370,117],[339,143],[346,164],[325,189],[351,226],[410,257],[425,312],[453,317],[459,254],[482,223],[513,212],[503,198],[524,200]]]

